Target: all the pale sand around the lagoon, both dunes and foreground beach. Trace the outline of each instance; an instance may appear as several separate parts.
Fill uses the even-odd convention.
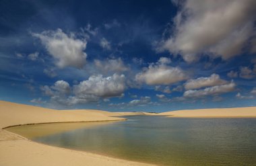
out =
[[[115,159],[83,151],[73,151],[32,142],[3,130],[9,126],[67,122],[115,122],[119,116],[168,116],[173,118],[256,118],[256,107],[216,108],[162,112],[106,112],[101,110],[51,110],[0,101],[0,165],[150,165]],[[67,125],[63,130],[69,130]],[[53,131],[54,132],[54,131]]]

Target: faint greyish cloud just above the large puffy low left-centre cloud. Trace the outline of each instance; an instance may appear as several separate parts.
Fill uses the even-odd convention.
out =
[[[100,72],[107,73],[113,71],[115,73],[121,73],[128,70],[128,67],[123,63],[121,58],[106,59],[106,60],[94,60],[94,65]]]

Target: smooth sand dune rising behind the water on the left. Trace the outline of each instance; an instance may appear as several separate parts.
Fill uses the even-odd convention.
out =
[[[109,112],[109,114],[112,114]],[[19,124],[121,120],[100,110],[61,111],[0,101],[0,128]]]

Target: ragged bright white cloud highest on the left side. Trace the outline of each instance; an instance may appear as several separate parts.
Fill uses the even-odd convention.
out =
[[[82,68],[86,63],[87,41],[85,38],[76,38],[75,34],[65,34],[61,29],[49,30],[32,36],[39,38],[46,50],[55,58],[55,64],[59,68]]]

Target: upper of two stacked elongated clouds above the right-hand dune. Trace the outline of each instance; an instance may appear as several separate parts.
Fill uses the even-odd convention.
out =
[[[185,83],[185,89],[199,89],[201,87],[212,87],[225,83],[227,83],[227,81],[220,79],[220,75],[212,74],[210,77],[199,77],[197,79],[190,79]]]

